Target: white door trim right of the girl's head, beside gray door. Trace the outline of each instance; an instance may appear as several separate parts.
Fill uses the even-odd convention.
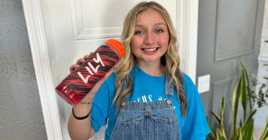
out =
[[[177,1],[177,35],[181,69],[195,83],[197,59],[198,0]]]

